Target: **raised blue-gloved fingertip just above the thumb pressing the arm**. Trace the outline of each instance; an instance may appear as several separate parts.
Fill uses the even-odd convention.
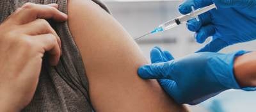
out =
[[[150,59],[151,63],[159,63],[164,61],[162,51],[159,47],[153,47],[150,52]]]

